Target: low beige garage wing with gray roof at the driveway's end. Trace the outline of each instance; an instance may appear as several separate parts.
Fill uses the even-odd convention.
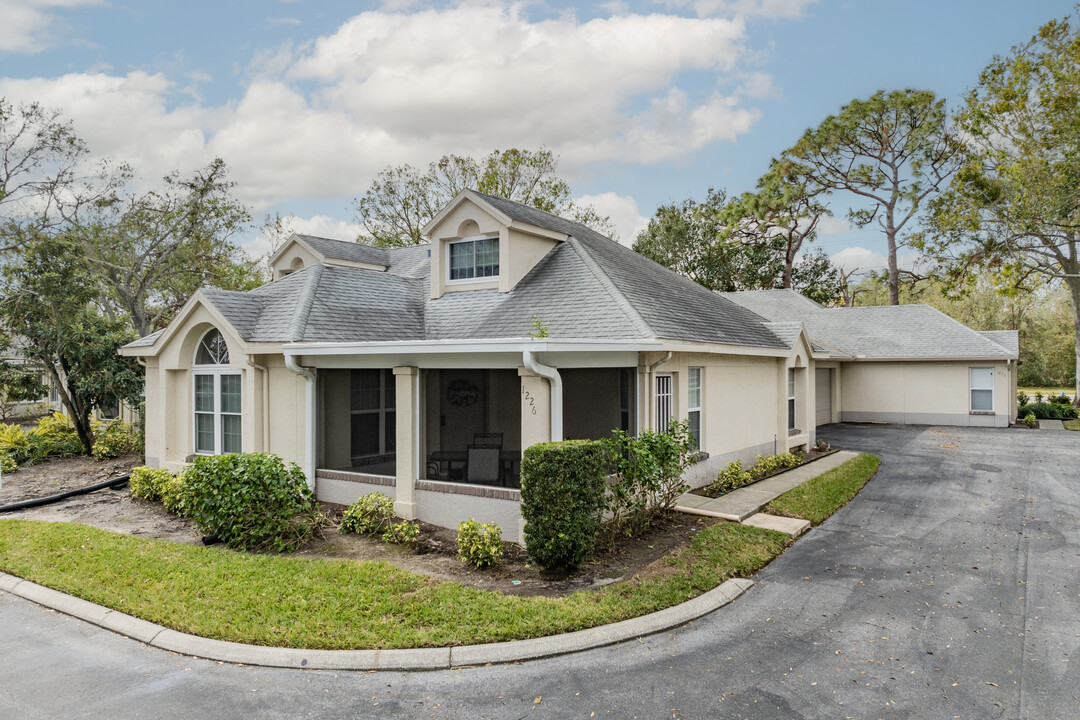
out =
[[[802,324],[815,423],[1007,427],[1016,420],[1015,330],[973,330],[930,305],[824,308],[793,290],[725,293],[772,322]]]

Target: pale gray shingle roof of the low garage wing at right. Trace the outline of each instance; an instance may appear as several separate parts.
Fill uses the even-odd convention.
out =
[[[801,321],[814,343],[835,355],[878,359],[1016,357],[1015,349],[930,305],[823,308],[794,290],[724,295],[768,321]]]

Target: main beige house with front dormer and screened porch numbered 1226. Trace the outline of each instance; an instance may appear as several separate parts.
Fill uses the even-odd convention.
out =
[[[380,491],[403,517],[495,521],[519,541],[525,448],[687,419],[708,454],[688,480],[704,485],[731,460],[813,444],[818,368],[856,365],[809,321],[502,198],[465,190],[424,235],[401,248],[293,235],[272,282],[202,288],[124,347],[146,365],[147,463],[275,452],[323,501]],[[1001,392],[993,411],[1008,416]]]

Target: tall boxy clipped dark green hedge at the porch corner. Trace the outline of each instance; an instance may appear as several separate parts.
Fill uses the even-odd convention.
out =
[[[596,440],[540,443],[522,458],[525,548],[543,568],[576,568],[599,529],[607,452]]]

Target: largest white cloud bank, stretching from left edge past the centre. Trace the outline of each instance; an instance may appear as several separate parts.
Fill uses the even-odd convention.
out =
[[[594,161],[687,158],[760,117],[744,100],[771,80],[751,71],[744,40],[744,23],[725,17],[531,21],[515,3],[463,2],[364,12],[313,42],[258,51],[243,95],[220,106],[147,72],[0,79],[0,95],[62,109],[96,154],[146,176],[220,155],[261,212],[352,196],[387,165],[447,152],[544,146],[570,178]],[[715,85],[679,85],[702,73]]]

